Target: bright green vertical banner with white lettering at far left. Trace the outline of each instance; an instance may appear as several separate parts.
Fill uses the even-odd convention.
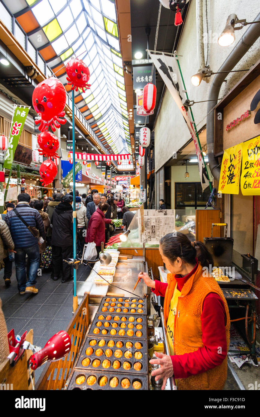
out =
[[[4,168],[11,169],[12,167],[15,149],[17,148],[29,110],[30,107],[18,106],[17,104],[14,105],[13,118],[8,139],[8,147],[4,160]]]

